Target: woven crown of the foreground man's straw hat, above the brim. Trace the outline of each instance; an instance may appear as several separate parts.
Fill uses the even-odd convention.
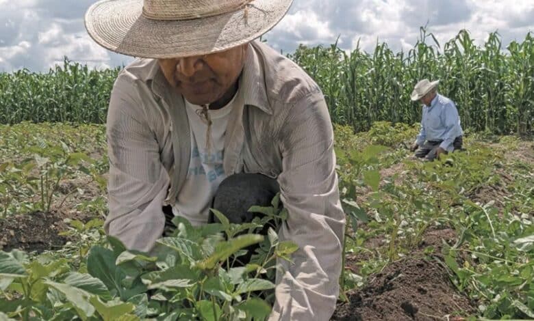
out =
[[[253,0],[144,0],[143,15],[153,20],[189,20],[237,11]]]

